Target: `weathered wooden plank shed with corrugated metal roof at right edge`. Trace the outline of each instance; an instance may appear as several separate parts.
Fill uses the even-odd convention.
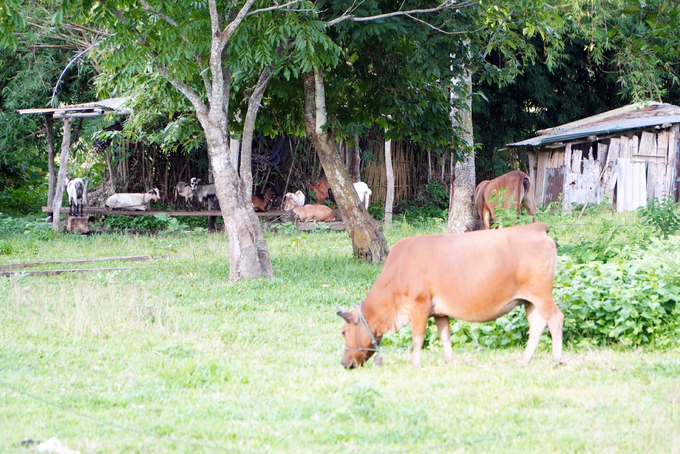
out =
[[[680,107],[637,103],[538,131],[509,144],[528,151],[536,203],[613,204],[634,210],[670,195],[678,201]]]

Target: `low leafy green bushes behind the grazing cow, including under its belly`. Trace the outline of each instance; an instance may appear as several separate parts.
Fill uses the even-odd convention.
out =
[[[610,244],[607,249],[612,227],[603,221],[599,240],[560,249],[576,252],[574,257],[559,256],[553,292],[565,315],[565,343],[661,346],[672,342],[680,334],[680,238],[651,239],[643,245],[646,249],[634,241]],[[584,263],[591,253],[601,260]],[[487,323],[451,323],[454,345],[524,346],[528,331],[523,308]],[[408,348],[410,327],[387,335],[384,342]],[[425,346],[432,345],[440,345],[434,323],[425,336]]]

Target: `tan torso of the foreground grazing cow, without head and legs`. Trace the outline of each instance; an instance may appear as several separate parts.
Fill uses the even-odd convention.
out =
[[[497,318],[513,300],[551,294],[557,249],[547,232],[547,225],[534,223],[404,239],[390,251],[367,299],[373,293],[395,304],[397,313],[408,310],[403,305],[431,302],[436,315]]]

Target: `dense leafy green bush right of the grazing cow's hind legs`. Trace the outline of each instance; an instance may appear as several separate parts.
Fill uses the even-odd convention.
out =
[[[680,277],[674,262],[651,254],[608,264],[578,265],[562,259],[555,294],[565,313],[567,341],[641,345],[674,331],[680,316]]]

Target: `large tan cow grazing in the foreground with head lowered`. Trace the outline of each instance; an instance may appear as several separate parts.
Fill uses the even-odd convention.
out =
[[[449,317],[486,322],[525,305],[529,342],[522,361],[528,363],[546,325],[553,341],[553,360],[562,358],[564,315],[552,290],[557,246],[542,223],[458,235],[418,236],[394,245],[385,267],[364,301],[338,315],[347,323],[342,365],[366,362],[386,331],[409,322],[414,366],[427,319],[434,317],[444,344],[444,359],[453,361]],[[379,357],[376,357],[376,363]]]

